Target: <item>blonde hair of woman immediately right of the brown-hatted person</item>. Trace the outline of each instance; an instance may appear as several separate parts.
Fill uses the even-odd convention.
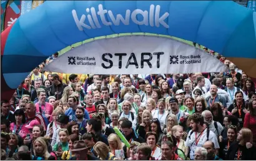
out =
[[[93,149],[101,160],[105,160],[109,154],[109,147],[104,142],[96,142]]]

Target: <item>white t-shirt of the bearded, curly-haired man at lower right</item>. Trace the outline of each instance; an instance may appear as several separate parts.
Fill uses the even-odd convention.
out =
[[[196,147],[203,147],[204,143],[207,141],[207,129],[205,129],[201,135],[199,132],[193,132],[192,135],[190,135],[191,132],[192,130],[189,131],[185,145],[190,148],[190,160],[194,160]],[[209,132],[209,141],[214,142],[215,149],[220,148],[217,137],[211,130]]]

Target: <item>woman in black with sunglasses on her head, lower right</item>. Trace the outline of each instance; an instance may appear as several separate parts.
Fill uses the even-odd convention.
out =
[[[223,139],[220,137],[220,150],[219,150],[219,157],[221,159],[225,159],[227,155],[227,151],[230,148],[230,145],[235,142],[237,139],[237,126],[236,125],[227,125],[226,131],[227,138]]]

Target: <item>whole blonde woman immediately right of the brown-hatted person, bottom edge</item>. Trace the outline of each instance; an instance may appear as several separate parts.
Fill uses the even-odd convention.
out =
[[[115,155],[109,152],[109,147],[104,142],[96,142],[93,147],[96,156],[101,160],[115,160]]]

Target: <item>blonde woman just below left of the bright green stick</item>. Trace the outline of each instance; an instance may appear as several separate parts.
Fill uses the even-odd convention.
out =
[[[110,134],[109,137],[107,137],[107,141],[109,142],[109,150],[112,154],[117,155],[116,150],[124,150],[124,158],[122,159],[127,158],[127,147],[121,142],[117,134]]]

